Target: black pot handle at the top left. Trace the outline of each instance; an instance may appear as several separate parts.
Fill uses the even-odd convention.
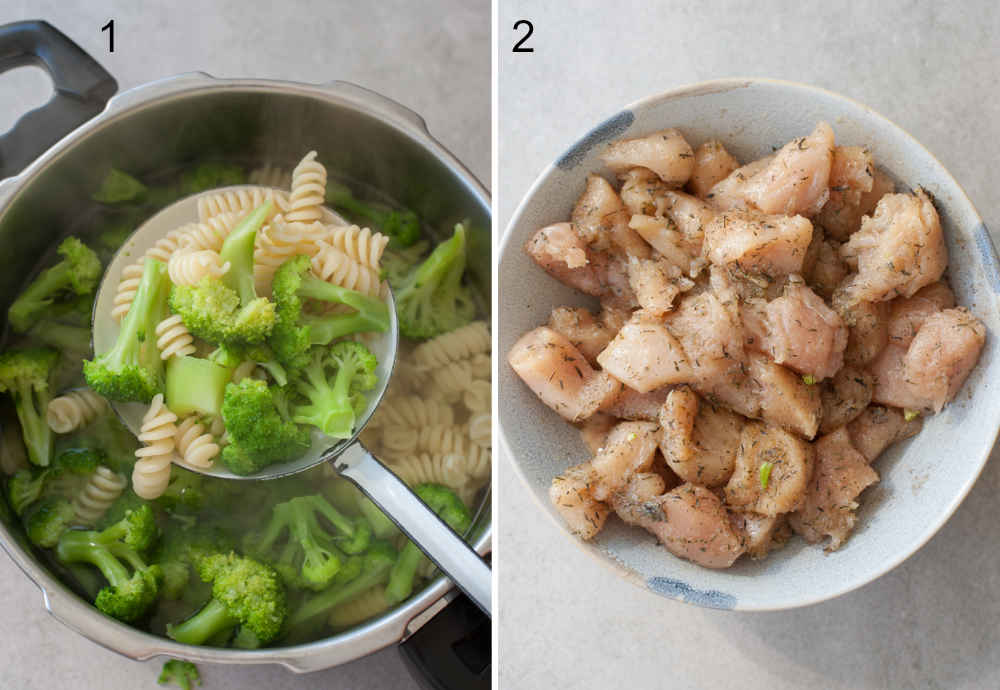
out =
[[[118,82],[94,58],[48,22],[0,26],[0,73],[40,65],[55,94],[0,136],[0,179],[21,172],[62,137],[104,109]]]

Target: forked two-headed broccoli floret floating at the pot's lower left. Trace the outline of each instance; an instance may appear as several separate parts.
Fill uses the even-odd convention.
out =
[[[122,520],[101,532],[63,532],[56,558],[64,564],[96,566],[108,585],[97,593],[94,605],[129,623],[149,610],[163,580],[160,567],[147,564],[142,555],[155,542],[157,532],[153,511],[145,505],[127,512]]]

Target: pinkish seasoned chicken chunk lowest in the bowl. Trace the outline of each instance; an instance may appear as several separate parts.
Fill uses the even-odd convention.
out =
[[[675,556],[706,568],[728,568],[744,551],[722,501],[703,486],[682,484],[643,505],[648,517],[639,524]]]

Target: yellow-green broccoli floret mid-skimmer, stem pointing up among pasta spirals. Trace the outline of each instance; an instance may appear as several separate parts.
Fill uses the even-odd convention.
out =
[[[274,327],[274,304],[258,297],[254,287],[253,250],[257,231],[268,214],[265,202],[248,214],[222,244],[219,257],[230,269],[221,279],[205,278],[197,285],[175,285],[170,308],[184,325],[216,345],[255,345]]]

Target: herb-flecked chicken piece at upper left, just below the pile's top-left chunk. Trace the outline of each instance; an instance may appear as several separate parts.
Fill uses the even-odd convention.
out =
[[[593,249],[648,258],[649,245],[628,226],[630,215],[607,180],[600,175],[589,175],[570,220]]]

